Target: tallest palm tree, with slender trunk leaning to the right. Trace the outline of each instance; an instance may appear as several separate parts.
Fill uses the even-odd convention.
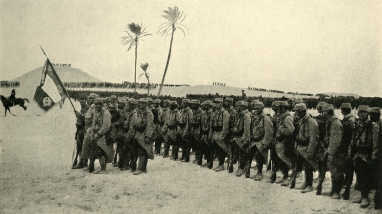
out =
[[[159,25],[158,34],[160,34],[161,36],[166,35],[166,37],[169,34],[171,34],[171,40],[170,40],[170,48],[168,50],[168,57],[167,57],[165,72],[163,73],[162,82],[161,82],[161,85],[159,86],[158,96],[161,94],[163,83],[165,82],[168,63],[170,62],[170,57],[171,57],[171,48],[172,48],[172,41],[174,38],[174,32],[176,29],[180,29],[183,32],[183,35],[185,37],[186,33],[184,32],[182,27],[187,28],[186,25],[182,24],[182,21],[184,21],[184,19],[186,18],[186,15],[183,16],[183,11],[179,12],[179,8],[177,6],[175,6],[174,8],[168,7],[168,10],[164,10],[163,12],[165,12],[165,15],[162,15],[162,16],[167,21]]]

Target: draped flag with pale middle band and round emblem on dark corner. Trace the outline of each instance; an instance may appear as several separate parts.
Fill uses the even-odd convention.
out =
[[[43,111],[48,112],[53,107],[63,103],[65,97],[65,88],[47,59],[41,73],[40,86],[37,86],[33,99]]]

